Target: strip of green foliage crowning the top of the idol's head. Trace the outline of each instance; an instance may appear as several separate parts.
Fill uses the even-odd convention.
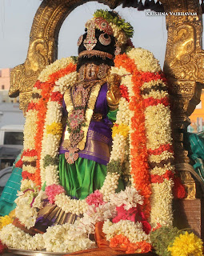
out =
[[[122,18],[114,17],[113,15],[111,15],[109,13],[108,10],[97,10],[94,13],[94,17],[95,18],[102,17],[102,18],[106,19],[106,21],[109,23],[113,22],[116,26],[118,26],[120,29],[125,31],[126,36],[128,38],[132,38],[132,36],[134,34],[134,28],[133,28],[133,26],[130,25],[129,22],[126,22]]]

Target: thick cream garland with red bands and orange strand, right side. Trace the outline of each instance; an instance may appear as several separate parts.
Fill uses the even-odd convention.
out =
[[[170,225],[174,166],[166,80],[154,55],[141,48],[117,56],[111,72],[122,75],[123,92],[126,88],[123,97],[130,109],[132,182],[145,197],[145,213],[150,216],[150,223]],[[120,109],[118,115],[119,112]]]

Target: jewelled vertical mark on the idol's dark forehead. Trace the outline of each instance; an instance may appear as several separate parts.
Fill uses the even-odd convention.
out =
[[[93,50],[94,46],[97,44],[97,38],[95,38],[95,23],[94,20],[86,22],[87,35],[86,39],[83,42],[83,45],[86,47],[86,50]]]

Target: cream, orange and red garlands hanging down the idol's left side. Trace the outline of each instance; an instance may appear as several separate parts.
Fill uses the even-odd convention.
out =
[[[63,67],[62,72],[61,67]],[[38,187],[42,186],[44,182],[53,184],[58,181],[58,174],[56,174],[58,162],[53,161],[54,165],[50,165],[51,161],[49,161],[49,164],[46,165],[44,158],[47,159],[50,155],[49,160],[54,159],[58,154],[58,143],[62,134],[62,94],[70,82],[76,81],[75,69],[74,58],[62,58],[46,67],[39,76],[41,81],[38,80],[34,85],[32,101],[28,106],[24,127],[22,191],[24,191],[25,186],[26,190],[38,190]],[[73,75],[70,76],[71,73]],[[56,77],[58,78],[58,85],[54,86],[54,83],[50,82],[54,82]],[[63,82],[64,77],[66,80],[70,78],[66,86]],[[58,127],[58,132],[53,129],[56,127]],[[47,154],[48,152],[51,154]],[[16,214],[19,219],[25,220],[27,227],[30,227],[34,226],[35,218],[31,220],[22,216],[21,200],[26,203],[25,198],[26,193],[19,196],[17,207],[20,207],[18,207],[19,213],[17,211]],[[36,209],[30,207],[28,202],[26,205],[27,210],[34,211],[33,215],[37,217]],[[22,222],[24,222],[23,220]]]

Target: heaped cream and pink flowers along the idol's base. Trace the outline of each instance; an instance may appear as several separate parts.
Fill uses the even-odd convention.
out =
[[[46,187],[46,190],[50,189],[50,186]],[[58,193],[59,189],[54,186],[53,190],[47,191],[47,194],[53,199],[53,191],[56,190],[56,193]],[[124,202],[127,205],[124,205]],[[138,222],[136,219],[128,220],[126,214],[121,214],[119,210],[119,206],[122,204],[122,207],[129,210],[134,209],[138,212],[138,207],[142,202],[142,197],[134,188],[127,187],[125,191],[118,193],[117,198],[113,195],[110,202],[104,202],[102,193],[96,190],[94,194],[90,194],[86,198],[87,209],[83,218],[77,220],[74,224],[66,223],[50,226],[46,233],[35,234],[33,237],[18,227],[9,224],[2,228],[0,237],[4,244],[13,248],[24,250],[46,249],[47,251],[67,253],[93,248],[95,243],[90,240],[89,234],[94,233],[96,223],[105,222],[103,231],[108,240],[115,238],[114,234],[121,234],[130,240],[131,251],[138,251],[138,246],[142,245],[143,250],[147,252],[151,248],[150,235],[146,234],[143,222]],[[118,222],[110,222],[110,219],[114,220],[116,217]],[[113,241],[112,246],[114,246]]]

